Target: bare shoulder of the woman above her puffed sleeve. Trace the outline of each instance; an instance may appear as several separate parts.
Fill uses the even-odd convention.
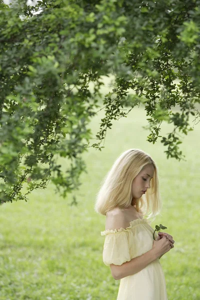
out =
[[[114,208],[107,212],[105,221],[105,230],[114,230],[120,228],[126,228],[127,220],[124,212],[119,208]]]

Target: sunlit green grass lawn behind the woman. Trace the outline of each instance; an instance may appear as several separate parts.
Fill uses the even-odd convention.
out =
[[[100,111],[91,122],[94,136],[102,117]],[[158,165],[163,206],[152,226],[164,224],[175,240],[160,259],[168,300],[200,299],[200,123],[180,145],[186,155],[180,162],[167,160],[160,142],[147,142],[143,125],[143,108],[134,108],[114,122],[101,152],[84,153],[88,173],[81,175],[77,206],[69,205],[72,195],[62,199],[52,185],[34,191],[27,203],[0,206],[0,300],[116,299],[119,281],[102,262],[105,217],[93,206],[103,176],[129,148],[147,151]],[[169,129],[164,125],[162,132]]]

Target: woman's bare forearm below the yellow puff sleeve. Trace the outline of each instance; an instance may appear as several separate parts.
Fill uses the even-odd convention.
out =
[[[123,277],[133,275],[143,268],[145,268],[149,263],[157,259],[154,250],[149,250],[146,253],[132,258],[130,261],[126,261],[121,265],[112,265],[112,276],[114,279],[119,280]]]

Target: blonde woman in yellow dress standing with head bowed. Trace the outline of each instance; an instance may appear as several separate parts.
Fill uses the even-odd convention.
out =
[[[160,208],[155,162],[139,149],[123,152],[95,203],[95,211],[106,215],[103,262],[120,279],[117,300],[167,300],[159,258],[173,248],[174,240],[166,232],[155,233],[154,240],[149,220]]]

